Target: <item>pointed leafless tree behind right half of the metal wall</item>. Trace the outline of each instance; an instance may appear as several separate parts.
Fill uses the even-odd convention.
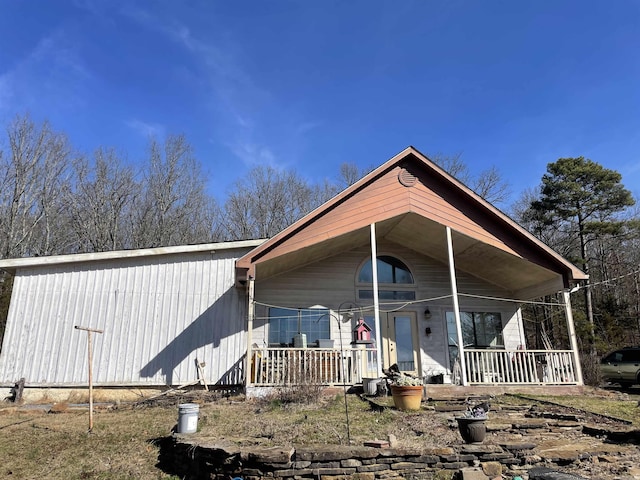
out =
[[[131,214],[132,247],[158,247],[211,241],[215,202],[206,178],[183,135],[163,144],[152,139],[141,195]]]

